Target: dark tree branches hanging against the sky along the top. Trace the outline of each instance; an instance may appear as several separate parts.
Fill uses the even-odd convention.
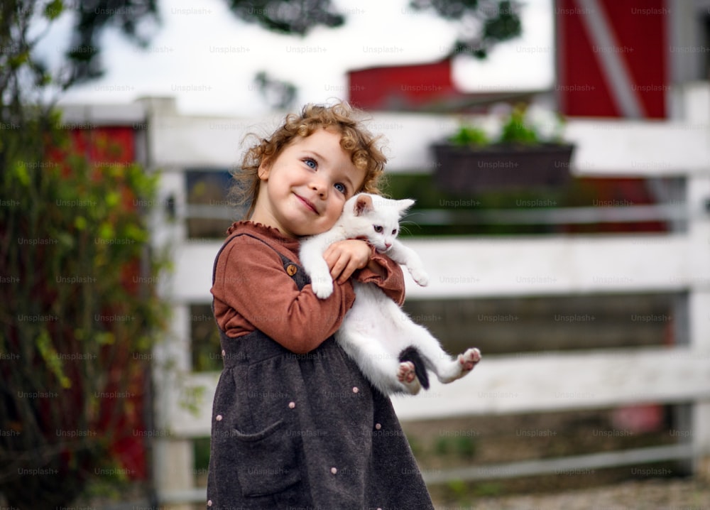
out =
[[[337,28],[347,21],[332,0],[224,1],[237,18],[275,33],[305,36],[314,28]],[[452,55],[467,53],[486,58],[496,44],[516,38],[522,32],[518,1],[412,0],[411,6],[421,11],[432,11],[458,26],[459,37],[450,51]],[[190,9],[200,8],[190,6]],[[64,55],[62,69],[52,77],[39,67],[35,70],[40,82],[51,80],[60,89],[103,75],[101,40],[107,29],[118,29],[132,43],[146,47],[160,23],[157,0],[6,0],[1,9],[0,25],[4,24],[3,20],[8,23],[0,29],[6,33],[10,33],[10,26],[16,32],[23,31],[33,13],[41,13],[51,22],[62,13],[72,11],[72,39]],[[23,23],[9,23],[18,17],[23,18]],[[0,60],[6,60],[13,69],[22,67],[31,60],[31,46],[4,45]]]

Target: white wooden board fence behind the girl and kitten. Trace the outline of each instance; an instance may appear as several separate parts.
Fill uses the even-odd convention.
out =
[[[409,244],[431,273],[429,287],[408,286],[408,299],[518,297],[592,293],[677,293],[687,310],[674,320],[685,338],[673,347],[485,356],[474,374],[455,384],[433,384],[425,395],[394,398],[403,421],[421,418],[566,411],[626,403],[691,403],[684,443],[567,459],[471,466],[429,474],[429,482],[542,474],[685,459],[710,474],[710,87],[675,91],[687,114],[677,121],[575,119],[567,138],[577,143],[572,168],[588,176],[681,176],[686,197],[674,204],[687,229],[668,234],[568,235],[417,239]],[[262,119],[183,116],[168,99],[146,99],[148,164],[162,172],[160,204],[175,200],[177,221],[162,207],[155,246],[170,246],[175,270],[161,279],[173,304],[173,328],[155,351],[155,479],[161,501],[202,501],[194,487],[190,439],[210,431],[218,374],[190,367],[190,304],[210,303],[212,261],[219,242],[186,237],[186,168],[229,168],[246,132]],[[430,171],[427,147],[454,129],[453,117],[374,114],[373,131],[389,141],[390,171]],[[267,126],[266,131],[271,126]],[[412,282],[409,282],[412,283]],[[170,363],[168,363],[168,361]],[[163,370],[166,365],[170,369]],[[189,401],[192,411],[183,405]]]

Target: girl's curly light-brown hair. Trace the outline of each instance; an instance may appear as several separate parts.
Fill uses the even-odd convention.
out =
[[[261,139],[247,149],[241,162],[241,168],[232,172],[234,183],[229,196],[236,205],[249,205],[245,218],[254,210],[261,180],[258,169],[264,158],[276,158],[297,136],[310,136],[317,129],[325,128],[340,134],[340,146],[350,154],[356,168],[365,170],[365,180],[357,192],[380,193],[379,180],[384,172],[386,156],[378,147],[378,136],[373,136],[357,117],[361,111],[346,102],[332,106],[306,104],[300,114],[291,113],[285,117],[270,138]]]

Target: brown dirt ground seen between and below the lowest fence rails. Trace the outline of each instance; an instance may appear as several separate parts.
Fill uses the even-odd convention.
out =
[[[633,420],[630,420],[633,418]],[[404,423],[422,474],[672,445],[672,409],[576,411]],[[497,464],[501,465],[501,464]],[[710,482],[675,461],[430,485],[438,510],[710,510]],[[710,472],[710,468],[704,470]]]

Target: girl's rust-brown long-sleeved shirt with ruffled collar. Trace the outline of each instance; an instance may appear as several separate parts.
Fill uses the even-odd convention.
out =
[[[298,265],[297,271],[302,271],[298,239],[285,237],[273,227],[248,221],[235,222],[227,234],[229,237],[248,234],[231,239],[215,267],[214,317],[227,336],[236,338],[261,330],[291,352],[303,354],[337,331],[355,300],[350,281],[335,283],[332,295],[319,299],[310,284],[298,290],[278,255],[292,260]],[[372,259],[385,269],[386,276],[364,268],[353,273],[353,278],[375,283],[401,305],[404,301],[402,269],[374,249]]]

